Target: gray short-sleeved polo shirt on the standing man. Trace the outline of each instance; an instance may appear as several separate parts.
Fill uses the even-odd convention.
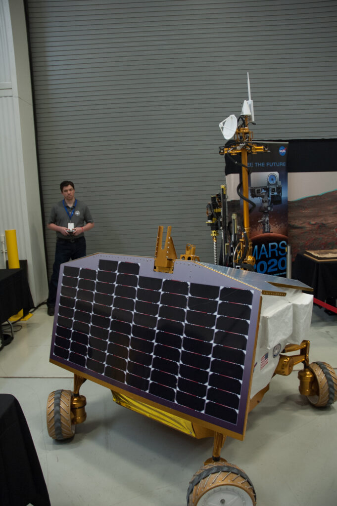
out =
[[[84,202],[81,202],[81,200],[78,200],[76,202],[75,208],[74,206],[69,207],[65,202],[64,204],[68,210],[69,216],[71,216],[72,210],[74,209],[71,219],[69,218],[64,208],[63,200],[60,200],[57,202],[57,204],[53,205],[50,212],[48,224],[55,223],[55,225],[58,225],[59,227],[67,228],[68,223],[73,223],[74,228],[78,228],[84,227],[86,223],[94,223],[89,207]],[[83,232],[77,235],[76,238],[81,237],[82,235],[84,235]],[[68,239],[68,237],[61,234],[61,232],[56,232],[56,236],[60,237],[61,239]],[[71,238],[72,236],[69,235],[69,240]]]

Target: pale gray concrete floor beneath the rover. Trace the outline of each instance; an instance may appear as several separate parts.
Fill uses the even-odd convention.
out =
[[[314,307],[311,361],[337,367],[337,316]],[[50,392],[72,390],[72,377],[49,363],[53,318],[33,313],[0,352],[0,392],[21,404],[52,506],[185,506],[193,474],[211,456],[212,439],[196,440],[113,402],[87,381],[87,420],[72,440],[47,432]],[[298,369],[299,367],[297,367]],[[337,404],[312,407],[298,393],[297,372],[272,379],[248,416],[243,442],[228,438],[221,456],[253,482],[257,506],[335,506]]]

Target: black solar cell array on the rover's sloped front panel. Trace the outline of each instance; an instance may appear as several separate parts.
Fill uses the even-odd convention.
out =
[[[51,357],[180,412],[237,424],[253,291],[65,265]]]

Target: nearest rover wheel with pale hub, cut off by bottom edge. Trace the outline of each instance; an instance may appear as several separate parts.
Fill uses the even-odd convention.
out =
[[[213,462],[193,476],[187,503],[188,506],[255,506],[256,494],[242,469],[229,462]]]

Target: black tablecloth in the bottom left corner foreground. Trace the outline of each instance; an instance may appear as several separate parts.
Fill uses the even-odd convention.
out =
[[[1,506],[50,506],[25,416],[9,394],[0,394],[0,483]]]

